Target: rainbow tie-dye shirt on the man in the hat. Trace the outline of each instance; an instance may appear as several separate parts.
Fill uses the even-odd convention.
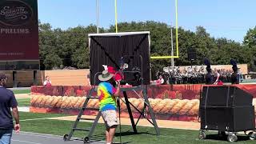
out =
[[[101,82],[98,85],[98,101],[99,101],[99,110],[116,110],[117,104],[113,94],[117,90],[110,84],[110,82]]]

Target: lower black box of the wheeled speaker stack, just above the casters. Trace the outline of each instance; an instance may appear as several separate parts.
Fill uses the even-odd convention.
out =
[[[255,129],[254,106],[200,107],[201,130],[238,132]]]

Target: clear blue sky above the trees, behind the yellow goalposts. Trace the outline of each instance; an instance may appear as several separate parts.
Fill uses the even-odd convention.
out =
[[[118,0],[118,22],[175,24],[174,0]],[[215,38],[242,42],[256,26],[256,0],[178,0],[178,26],[204,26]],[[38,0],[38,18],[54,28],[96,24],[96,0]],[[99,0],[99,26],[114,25],[114,0]]]

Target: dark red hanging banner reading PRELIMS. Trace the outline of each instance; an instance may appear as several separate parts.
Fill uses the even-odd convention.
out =
[[[0,70],[38,70],[37,0],[0,1]]]

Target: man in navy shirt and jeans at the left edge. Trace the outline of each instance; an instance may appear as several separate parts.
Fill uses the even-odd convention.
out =
[[[0,73],[0,143],[9,144],[13,129],[18,133],[20,131],[18,103],[11,90],[6,89],[7,77]],[[13,123],[12,113],[16,124]]]

